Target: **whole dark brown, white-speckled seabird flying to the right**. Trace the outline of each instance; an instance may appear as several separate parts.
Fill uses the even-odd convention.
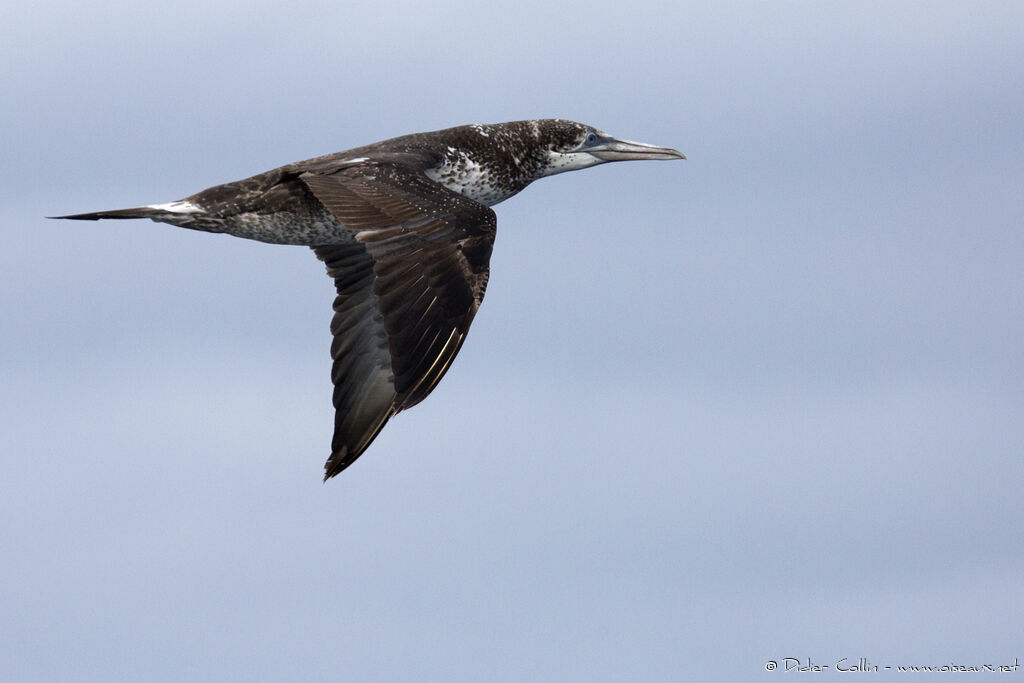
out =
[[[477,124],[288,164],[167,204],[55,217],[151,218],[312,248],[338,292],[326,481],[452,365],[487,286],[490,207],[545,176],[642,159],[685,157],[560,119]]]

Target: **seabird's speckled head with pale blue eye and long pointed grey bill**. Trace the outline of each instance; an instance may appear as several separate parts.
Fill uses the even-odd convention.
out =
[[[622,140],[574,121],[545,119],[537,122],[537,127],[538,136],[548,150],[546,176],[613,161],[686,159],[671,147]]]

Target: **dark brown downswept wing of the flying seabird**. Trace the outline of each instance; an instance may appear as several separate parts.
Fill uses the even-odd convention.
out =
[[[299,178],[354,237],[312,248],[338,290],[326,479],[447,371],[483,299],[497,220],[482,204],[395,165]]]

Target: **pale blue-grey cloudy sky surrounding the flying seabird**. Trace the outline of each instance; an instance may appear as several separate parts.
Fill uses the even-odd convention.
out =
[[[1024,660],[1021,3],[3,14],[3,680]],[[43,218],[535,117],[689,160],[499,206],[453,370],[328,484],[308,250]]]

